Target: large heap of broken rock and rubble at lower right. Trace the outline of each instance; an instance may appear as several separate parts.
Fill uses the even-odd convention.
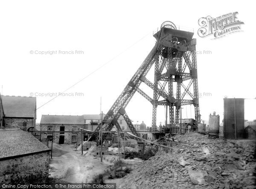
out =
[[[133,167],[119,188],[254,188],[255,141],[191,133],[161,140],[174,147]],[[172,142],[170,142],[172,141]],[[175,150],[178,149],[178,150]],[[131,184],[133,183],[133,184]]]

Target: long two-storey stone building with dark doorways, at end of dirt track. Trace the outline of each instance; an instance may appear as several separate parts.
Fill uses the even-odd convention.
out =
[[[41,134],[41,139],[52,139],[53,142],[58,144],[75,144],[87,140],[86,134],[80,134],[78,128],[84,128],[84,116],[54,116],[54,115],[42,115],[40,122],[40,130],[47,131],[47,134]],[[73,131],[73,133],[72,133]],[[80,130],[81,131],[81,130]]]

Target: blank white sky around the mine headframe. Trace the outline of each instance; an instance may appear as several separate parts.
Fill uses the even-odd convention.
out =
[[[170,20],[177,27],[194,29],[198,52],[211,51],[211,54],[197,55],[198,89],[202,94],[200,113],[201,118],[208,121],[209,114],[216,111],[222,120],[225,96],[256,97],[255,10],[250,3],[223,0],[182,1],[180,4],[170,0],[1,1],[1,91],[3,95],[36,96],[37,107],[41,107],[54,96],[40,94],[61,93],[90,74],[67,90],[66,96],[59,96],[39,108],[37,122],[42,114],[99,114],[101,96],[102,110],[106,113],[153,48],[156,41],[153,31]],[[198,36],[199,18],[235,11],[244,22],[243,32],[216,40]],[[57,54],[35,54],[39,51],[57,51]],[[76,51],[83,51],[83,54],[76,54]],[[147,78],[154,80],[151,73]],[[145,91],[152,97],[150,89]],[[256,119],[255,101],[246,102],[246,119]],[[184,107],[183,118],[195,117],[191,112],[193,108],[193,105]],[[126,111],[132,120],[151,125],[152,105],[140,94],[134,95]],[[164,122],[164,107],[158,108],[157,115],[157,124]]]

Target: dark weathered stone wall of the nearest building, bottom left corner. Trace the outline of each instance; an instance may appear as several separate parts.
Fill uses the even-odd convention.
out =
[[[0,161],[0,185],[46,183],[49,152]]]

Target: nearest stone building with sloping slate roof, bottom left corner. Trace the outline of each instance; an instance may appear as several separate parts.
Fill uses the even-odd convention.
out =
[[[0,186],[46,183],[49,148],[21,129],[0,129]]]

